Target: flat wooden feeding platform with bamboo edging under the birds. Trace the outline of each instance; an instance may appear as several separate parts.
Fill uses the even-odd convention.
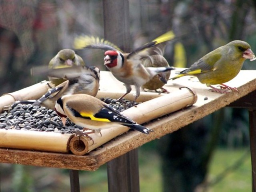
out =
[[[174,76],[174,73],[172,72],[171,76]],[[90,135],[94,139],[94,144],[92,144],[91,140],[88,140],[86,137],[74,135],[59,134],[58,136],[63,138],[58,138],[54,133],[37,132],[36,134],[34,133],[36,136],[31,134],[31,137],[38,137],[41,134],[42,138],[46,138],[48,143],[46,148],[48,149],[44,151],[43,148],[36,149],[36,145],[44,145],[44,143],[40,144],[38,141],[41,139],[40,136],[34,139],[34,141],[32,138],[28,139],[29,142],[35,142],[33,144],[30,143],[30,146],[33,146],[33,148],[25,149],[24,147],[19,147],[17,149],[18,145],[14,144],[14,140],[21,140],[23,143],[26,143],[26,141],[22,140],[22,137],[28,137],[28,131],[23,133],[20,130],[14,130],[14,139],[10,139],[12,130],[0,130],[0,162],[94,171],[106,162],[114,160],[147,142],[170,134],[220,108],[233,106],[249,109],[251,153],[253,158],[252,169],[256,170],[255,74],[255,70],[242,70],[236,78],[226,83],[229,86],[236,87],[239,93],[218,94],[211,92],[208,87],[198,82],[197,78],[190,76],[173,81],[169,80],[164,88],[170,94],[141,92],[138,101],[142,101],[142,103],[125,110],[123,113],[138,123],[144,123],[144,126],[154,130],[154,132],[150,132],[148,135],[137,131],[128,131],[128,128],[121,126],[120,128],[102,130],[102,137]],[[47,87],[46,82],[42,83],[41,86],[43,87],[42,89]],[[44,92],[40,92],[40,94],[44,94]],[[124,85],[118,82],[110,72],[101,72],[98,98],[118,98],[124,92]],[[132,100],[134,98],[133,94],[134,92],[131,92],[126,98]],[[32,99],[26,96],[27,94],[24,94],[24,98],[19,97],[19,99]],[[39,96],[36,95],[36,97]],[[0,100],[1,108],[13,102],[14,98],[16,96],[12,94],[2,96]],[[55,140],[57,143],[52,144]],[[62,151],[58,152],[56,146],[62,148]],[[72,149],[72,147],[74,148]],[[255,180],[254,175],[255,171],[253,172]]]

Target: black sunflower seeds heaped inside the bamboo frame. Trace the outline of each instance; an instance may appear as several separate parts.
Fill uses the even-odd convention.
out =
[[[111,98],[102,99],[116,110],[122,112],[130,108],[132,103],[128,100],[118,102]],[[138,104],[138,103],[135,103]],[[32,104],[14,103],[4,108],[0,114],[0,128],[16,130],[33,130],[58,133],[76,133],[83,128],[67,120],[64,127],[60,117],[54,110]]]

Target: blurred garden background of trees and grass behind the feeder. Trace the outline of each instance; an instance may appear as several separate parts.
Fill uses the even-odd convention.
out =
[[[186,67],[218,46],[244,40],[256,52],[255,0],[129,0],[133,48],[167,30],[170,65]],[[102,0],[1,0],[0,94],[44,80],[32,66],[48,65],[76,35],[103,37]],[[88,66],[103,68],[103,53],[78,52]],[[248,60],[243,69],[256,69]],[[246,77],[244,77],[246,78]],[[224,108],[139,149],[140,189],[164,192],[251,190],[248,112]],[[106,191],[106,166],[80,171],[81,191]],[[69,191],[69,172],[0,164],[3,192]]]

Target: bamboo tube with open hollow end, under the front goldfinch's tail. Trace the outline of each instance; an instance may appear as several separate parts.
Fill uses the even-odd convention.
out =
[[[192,89],[184,87],[171,94],[166,94],[129,108],[122,112],[122,114],[142,124],[191,106],[196,100],[196,93]],[[75,155],[84,155],[128,130],[129,128],[126,126],[103,129],[101,130],[101,136],[100,134],[90,134],[93,142],[86,136],[73,137],[70,140],[70,150]]]

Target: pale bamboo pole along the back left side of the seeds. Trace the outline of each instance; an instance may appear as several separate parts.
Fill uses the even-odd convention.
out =
[[[0,97],[0,113],[3,112],[4,106],[8,106],[15,101],[40,98],[43,94],[45,94],[48,91],[48,84],[51,85],[49,81],[42,81],[40,83],[34,84],[24,89],[2,95]]]

